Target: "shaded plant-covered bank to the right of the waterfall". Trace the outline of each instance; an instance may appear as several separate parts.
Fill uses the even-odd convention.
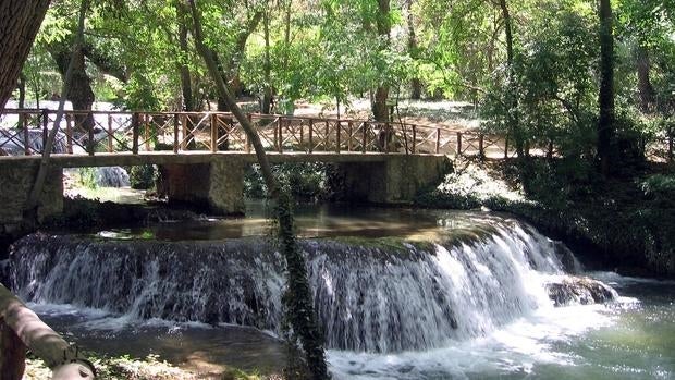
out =
[[[675,176],[667,168],[600,182],[563,177],[555,164],[539,162],[525,192],[514,162],[455,167],[416,204],[508,212],[563,240],[591,267],[675,278]]]

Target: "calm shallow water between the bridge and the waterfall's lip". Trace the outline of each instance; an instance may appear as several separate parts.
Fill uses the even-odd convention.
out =
[[[449,233],[476,232],[487,228],[484,212],[417,210],[409,208],[349,207],[346,205],[297,206],[294,210],[300,237],[386,237],[434,241]],[[274,224],[272,209],[260,201],[247,203],[245,218],[202,218],[165,221],[145,226],[98,232],[107,238],[157,238],[164,241],[218,241],[268,235]]]

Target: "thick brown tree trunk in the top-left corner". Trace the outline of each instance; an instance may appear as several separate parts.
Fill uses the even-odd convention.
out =
[[[49,0],[0,2],[0,113],[16,87],[16,78],[48,7]]]

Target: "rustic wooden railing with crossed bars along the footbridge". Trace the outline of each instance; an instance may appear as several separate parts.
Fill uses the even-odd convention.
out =
[[[251,151],[234,115],[226,112],[7,110],[0,117],[0,152],[41,154],[58,127],[53,152]],[[408,152],[484,155],[504,139],[474,131],[410,123],[248,114],[263,146],[277,152]],[[508,152],[507,152],[508,154]]]

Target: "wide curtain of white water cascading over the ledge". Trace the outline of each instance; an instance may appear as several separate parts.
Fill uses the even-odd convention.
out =
[[[442,347],[553,307],[547,284],[564,275],[568,261],[559,243],[505,219],[443,243],[345,238],[299,245],[327,345],[357,352]],[[266,238],[154,242],[34,234],[14,245],[10,260],[11,284],[30,302],[138,319],[277,332],[281,326],[283,258]]]

